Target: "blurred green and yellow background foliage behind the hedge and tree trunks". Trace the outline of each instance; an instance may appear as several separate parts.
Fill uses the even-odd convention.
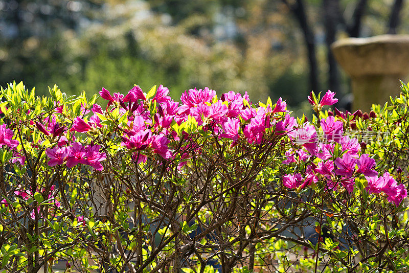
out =
[[[322,2],[305,3],[326,90]],[[356,1],[339,3],[350,19]],[[388,3],[369,3],[364,36],[384,32]],[[0,0],[0,15],[2,86],[15,79],[38,94],[54,83],[67,94],[93,94],[161,83],[174,98],[209,86],[247,91],[255,101],[286,97],[290,106],[310,92],[302,33],[282,1]],[[405,27],[402,21],[400,32]],[[347,83],[344,76],[343,90]]]

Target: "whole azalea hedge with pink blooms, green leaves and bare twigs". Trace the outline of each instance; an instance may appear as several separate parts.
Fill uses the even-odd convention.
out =
[[[310,121],[207,87],[49,93],[0,90],[7,272],[408,270],[405,85],[369,114],[311,93]]]

